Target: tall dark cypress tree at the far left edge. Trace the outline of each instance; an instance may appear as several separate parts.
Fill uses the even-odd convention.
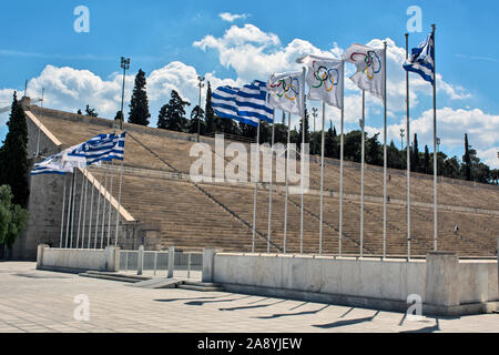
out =
[[[11,112],[7,122],[9,132],[0,148],[0,184],[12,189],[13,203],[28,206],[28,124],[24,111],[13,94]]]

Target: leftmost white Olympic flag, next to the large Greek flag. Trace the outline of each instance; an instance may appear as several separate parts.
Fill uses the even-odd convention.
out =
[[[304,89],[305,83],[302,72],[274,73],[267,82],[268,103],[274,109],[302,115],[304,110],[302,90]]]

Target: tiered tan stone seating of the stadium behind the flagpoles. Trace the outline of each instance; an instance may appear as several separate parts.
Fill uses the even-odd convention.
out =
[[[32,112],[63,143],[62,148],[74,145],[88,140],[95,134],[109,132],[112,130],[112,122],[109,120],[86,118],[81,115],[79,116],[71,113],[41,108],[33,108]],[[171,135],[182,135],[182,139],[175,139],[172,136],[161,136],[163,133],[155,129],[139,128],[129,123],[125,123],[124,125],[125,129],[130,129],[129,133],[131,133],[131,135],[139,141],[138,142],[134,139],[130,139],[126,141],[128,153],[125,154],[125,166],[141,168],[151,171],[182,172],[189,174],[191,163],[195,159],[189,156],[189,151],[193,142],[189,141],[187,134],[165,132]],[[142,142],[143,144],[140,144],[140,142]],[[47,154],[47,152],[44,152],[44,154]],[[247,166],[251,166],[251,164],[248,163]],[[390,179],[387,182],[387,194],[391,199],[399,199],[401,201],[405,201],[405,171],[389,169],[388,174],[390,174]],[[101,176],[101,174],[99,173],[96,175],[96,178],[101,180],[101,182],[103,182],[103,176]],[[131,173],[131,175],[133,175],[133,173]],[[359,194],[359,164],[346,162],[344,176],[344,192],[346,194]],[[319,189],[319,164],[310,162],[310,189]],[[116,179],[116,175],[114,179]],[[166,210],[162,210],[157,206],[157,200],[161,200],[159,199],[159,195],[163,193],[155,191],[154,185],[146,186],[146,184],[151,184],[153,181],[144,180],[143,178],[140,178],[139,180],[143,183],[138,183],[135,185],[135,189],[138,189],[135,191],[135,195],[129,195],[129,197],[126,197],[128,200],[123,202],[123,205],[141,222],[152,221],[154,223],[159,223],[162,229],[165,229],[170,233],[169,236],[165,235],[163,231],[161,232],[162,245],[167,246],[169,243],[173,241],[175,243],[175,246],[177,247],[182,246],[185,248],[198,248],[205,246],[203,244],[208,241],[210,246],[220,246],[223,250],[227,248],[227,251],[251,250],[251,224],[253,221],[252,189],[246,189],[237,185],[230,186],[230,189],[233,189],[234,195],[240,195],[238,199],[233,199],[236,201],[238,200],[238,204],[241,204],[241,201],[248,201],[245,203],[245,211],[236,211],[232,201],[225,203],[221,196],[212,196],[216,200],[220,200],[220,202],[223,202],[225,207],[227,207],[228,210],[233,212],[235,211],[235,215],[231,215],[231,213],[221,214],[221,205],[216,206],[216,204],[206,204],[207,200],[202,200],[203,202],[200,202],[204,203],[205,210],[208,210],[210,212],[203,211],[202,209],[197,209],[193,212],[192,209],[189,209],[185,204],[182,204],[182,201],[185,200],[185,197],[189,197],[194,193],[201,195],[200,191],[192,189],[192,185],[190,187],[192,191],[185,192],[184,190],[182,190],[167,201],[164,201],[164,203],[166,204],[179,204],[180,206],[179,213],[175,213],[175,211],[169,211],[166,213]],[[368,196],[380,197],[383,195],[383,170],[366,165],[365,180],[365,194]],[[410,181],[411,201],[432,203],[431,176],[411,173]],[[326,191],[339,191],[339,162],[334,160],[326,160],[324,182]],[[170,180],[167,183],[176,186],[177,182],[172,182],[172,180]],[[123,189],[123,194],[124,191],[128,190],[128,182],[124,182],[123,186],[126,186],[126,189]],[[114,196],[118,194],[116,185],[118,184],[115,183],[113,186],[112,194]],[[461,183],[460,181],[444,179],[444,182],[439,182],[438,192],[439,203],[442,204],[499,211],[499,189],[497,187],[486,186],[482,184],[467,184],[464,182]],[[150,197],[142,197],[142,194],[149,195]],[[246,196],[249,196],[249,199],[246,200]],[[276,197],[275,193],[274,196]],[[211,200],[212,202],[214,202],[213,199]],[[257,251],[266,251],[267,245],[267,205],[262,204],[261,207],[261,203],[263,201],[265,201],[265,203],[268,203],[268,191],[265,191],[262,195],[258,193],[258,237],[255,240]],[[281,201],[284,202],[284,197],[281,197]],[[304,246],[305,250],[309,252],[316,252],[318,247],[318,197],[305,195],[305,210],[310,211],[312,214],[315,214],[315,216],[308,213],[305,214],[306,234]],[[334,226],[337,226],[338,224],[338,200],[325,197],[324,202],[324,221],[325,223],[327,222],[333,226],[333,229],[323,229],[323,237],[325,242],[324,250],[326,253],[335,253],[338,247],[337,231],[334,230]],[[140,209],[136,205],[143,205],[143,209]],[[150,205],[152,205],[152,207],[150,207]],[[283,214],[284,209],[276,206],[278,205],[277,202],[274,202],[274,205],[275,213],[273,213],[273,219],[278,224],[281,223],[281,217],[278,215]],[[358,254],[359,206],[355,201],[347,202],[346,200],[344,201],[344,232],[356,242],[352,242],[352,245],[347,246],[346,244],[348,244],[348,240],[344,237],[344,252],[345,248],[350,248],[352,252]],[[373,248],[370,251],[371,253],[377,254],[383,246],[383,204],[374,204],[373,207],[369,204],[368,209],[373,212],[373,214],[365,213],[366,234],[364,242],[366,247]],[[294,211],[294,221],[289,221],[289,223],[292,224],[288,229],[288,245],[293,245],[293,250],[296,251],[299,250],[299,240],[297,237],[297,235],[299,236],[299,207],[289,203],[291,213],[292,210]],[[225,210],[225,212],[227,212],[227,210]],[[398,207],[388,209],[387,213],[387,227],[389,227],[389,233],[387,232],[387,251],[389,254],[404,255],[407,250],[407,221],[405,217],[406,209],[399,205]],[[228,216],[228,219],[223,215]],[[432,250],[432,210],[428,207],[416,207],[413,205],[411,216],[411,235],[414,239],[418,239],[420,241],[416,242],[415,240],[413,240],[413,250],[414,253],[421,253],[421,255],[424,255],[428,250]],[[232,221],[228,222],[230,220]],[[315,226],[308,226],[309,222],[307,222],[307,220],[313,221],[312,224],[315,224]],[[217,223],[218,221],[221,223]],[[297,224],[296,221],[298,222]],[[459,223],[457,223],[459,225],[459,237],[457,237],[452,233],[455,221],[459,221]],[[189,226],[187,224],[190,224],[191,226]],[[381,226],[381,230],[379,230],[379,226]],[[379,233],[379,231],[381,231],[381,234]],[[498,236],[499,231],[499,217],[497,215],[487,215],[483,213],[461,213],[456,211],[449,212],[439,210],[438,231],[439,250],[456,251],[460,255],[491,255],[497,247],[496,237]],[[231,242],[230,239],[231,234],[234,235],[233,242]],[[190,240],[190,235],[193,235],[193,240]],[[272,241],[275,242],[277,247],[282,247],[282,226],[276,227],[275,231],[273,227]],[[314,245],[315,250],[314,247],[307,246],[307,243]]]

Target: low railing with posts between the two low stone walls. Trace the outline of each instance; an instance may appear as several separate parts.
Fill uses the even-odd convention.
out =
[[[173,260],[170,256],[173,255]],[[120,271],[145,276],[201,280],[203,254],[174,251],[120,251]]]

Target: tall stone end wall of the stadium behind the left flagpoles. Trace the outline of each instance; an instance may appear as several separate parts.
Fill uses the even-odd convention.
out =
[[[31,106],[33,113],[37,113],[37,108]],[[79,116],[79,115],[78,115]],[[81,116],[80,116],[81,118]],[[28,155],[31,159],[32,165],[34,163],[42,161],[48,155],[58,153],[61,151],[62,144],[60,142],[50,136],[50,132],[44,130],[43,126],[39,124],[39,121],[35,116],[30,114],[30,111],[27,111],[27,123],[28,123]],[[45,133],[49,133],[45,134]],[[39,152],[39,156],[35,156],[37,151]],[[30,166],[30,170],[32,166]],[[47,244],[52,247],[61,246],[61,222],[62,222],[62,204],[63,204],[63,190],[64,184],[67,189],[65,195],[65,205],[64,205],[64,229],[62,231],[62,246],[71,244],[71,236],[73,240],[73,246],[75,247],[78,241],[78,221],[80,213],[80,194],[82,191],[82,184],[86,180],[86,178],[78,171],[75,173],[75,193],[77,200],[74,205],[74,227],[68,232],[68,202],[70,195],[70,186],[72,181],[72,174],[67,175],[57,175],[57,174],[43,174],[43,175],[34,175],[29,178],[30,184],[30,197],[28,202],[28,211],[29,211],[29,220],[27,230],[16,240],[14,245],[12,246],[11,252],[9,253],[10,258],[13,260],[35,260],[37,257],[37,247],[39,244]],[[86,222],[81,223],[80,225],[80,247],[88,246],[89,239],[89,227],[92,225],[92,231],[90,232],[91,237],[91,247],[95,245],[95,237],[98,240],[96,246],[100,247],[101,240],[103,240],[103,246],[106,245],[108,241],[108,222],[109,214],[106,213],[105,223],[104,223],[104,234],[102,235],[102,229],[100,227],[98,233],[95,234],[95,223],[96,223],[96,209],[98,209],[98,189],[94,190],[94,203],[93,207],[91,206],[90,193],[92,191],[91,183],[88,183],[88,199],[86,199]],[[102,194],[101,194],[102,195]],[[118,199],[115,199],[118,200]],[[102,223],[102,201],[101,199],[101,216],[100,223]],[[93,216],[90,219],[90,211],[93,211]],[[84,204],[82,205],[82,215],[84,211]],[[72,214],[71,214],[72,215]],[[92,220],[92,222],[90,221]],[[112,206],[111,210],[111,233],[110,240],[111,244],[114,244],[114,235],[115,235],[115,221],[116,221],[116,206]],[[141,227],[147,227],[145,225],[141,225],[138,221],[128,222],[123,217],[120,216],[119,224],[119,245],[124,248],[136,248],[142,243],[144,237],[144,242],[147,243],[147,234],[152,235],[151,232],[141,231]],[[85,241],[82,244],[81,237],[83,236],[83,229],[85,231]],[[151,241],[150,244],[153,244],[153,237],[149,237]]]

